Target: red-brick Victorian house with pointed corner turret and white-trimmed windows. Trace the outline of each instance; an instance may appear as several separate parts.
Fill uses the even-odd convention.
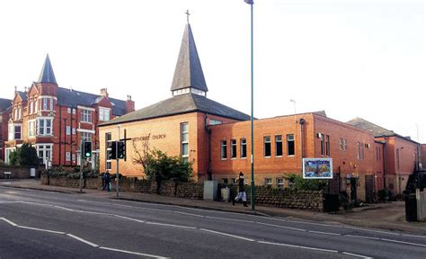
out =
[[[99,153],[98,124],[134,109],[129,95],[127,101],[122,101],[111,98],[107,89],[101,89],[101,94],[88,94],[59,87],[48,55],[39,81],[24,92],[15,89],[4,160],[8,163],[15,147],[29,142],[37,148],[42,164],[78,165],[83,139],[92,141],[95,162]]]

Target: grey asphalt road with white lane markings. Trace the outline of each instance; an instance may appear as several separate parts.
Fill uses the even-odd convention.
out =
[[[0,187],[0,258],[426,258],[426,236]]]

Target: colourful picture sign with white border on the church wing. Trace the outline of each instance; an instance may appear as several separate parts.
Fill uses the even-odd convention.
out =
[[[332,158],[303,158],[304,179],[333,179]]]

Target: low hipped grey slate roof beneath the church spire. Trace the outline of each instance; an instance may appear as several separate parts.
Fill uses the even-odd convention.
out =
[[[100,126],[118,124],[130,121],[144,121],[165,116],[172,116],[188,112],[207,112],[234,119],[237,121],[249,121],[250,115],[238,112],[224,104],[217,103],[198,94],[182,94],[166,99],[162,102],[152,104],[135,112],[130,112],[119,118],[102,123]]]

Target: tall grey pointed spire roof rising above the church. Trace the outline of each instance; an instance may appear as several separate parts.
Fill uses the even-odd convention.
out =
[[[196,88],[203,92],[209,89],[204,79],[195,40],[192,35],[191,25],[187,23],[183,32],[181,50],[174,69],[171,91],[183,88]]]

